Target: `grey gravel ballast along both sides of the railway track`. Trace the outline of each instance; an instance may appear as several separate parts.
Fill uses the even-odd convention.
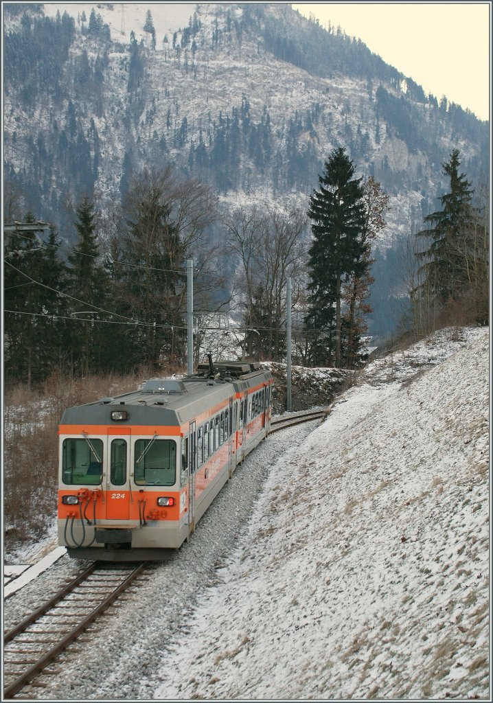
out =
[[[190,542],[169,562],[151,562],[149,580],[110,608],[84,633],[83,641],[60,655],[60,672],[42,676],[43,687],[25,688],[35,699],[152,699],[162,650],[188,618],[208,586],[219,582],[238,537],[252,515],[271,465],[300,444],[320,423],[289,427],[267,438],[228,482],[200,520]],[[5,602],[4,628],[9,629],[39,607],[64,579],[89,562],[68,556]]]

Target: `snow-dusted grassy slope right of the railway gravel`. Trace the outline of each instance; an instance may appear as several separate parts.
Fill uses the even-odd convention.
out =
[[[440,363],[450,337],[376,361],[274,465],[156,699],[490,699],[489,337]]]

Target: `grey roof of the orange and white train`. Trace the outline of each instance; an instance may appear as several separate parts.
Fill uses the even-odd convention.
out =
[[[248,366],[248,370],[243,366]],[[236,366],[240,372],[236,378],[231,372],[225,374],[219,370],[219,365],[218,375],[224,378],[207,378],[206,375],[187,376],[182,380],[152,378],[139,390],[68,408],[60,425],[115,425],[110,414],[122,410],[128,412],[132,425],[182,425],[236,393],[272,378],[267,370],[252,370],[249,364],[243,366]]]

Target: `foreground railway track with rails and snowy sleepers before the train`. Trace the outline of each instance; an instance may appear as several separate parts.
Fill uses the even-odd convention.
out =
[[[120,597],[145,567],[144,562],[131,567],[94,562],[5,633],[4,699],[15,696],[52,664],[60,652]]]

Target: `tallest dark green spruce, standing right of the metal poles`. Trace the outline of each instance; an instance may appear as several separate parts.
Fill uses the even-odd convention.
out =
[[[340,147],[333,150],[319,176],[319,190],[310,198],[308,217],[313,240],[309,247],[309,311],[307,328],[319,330],[315,363],[342,364],[342,284],[360,275],[366,247],[361,241],[365,206],[361,178]]]

